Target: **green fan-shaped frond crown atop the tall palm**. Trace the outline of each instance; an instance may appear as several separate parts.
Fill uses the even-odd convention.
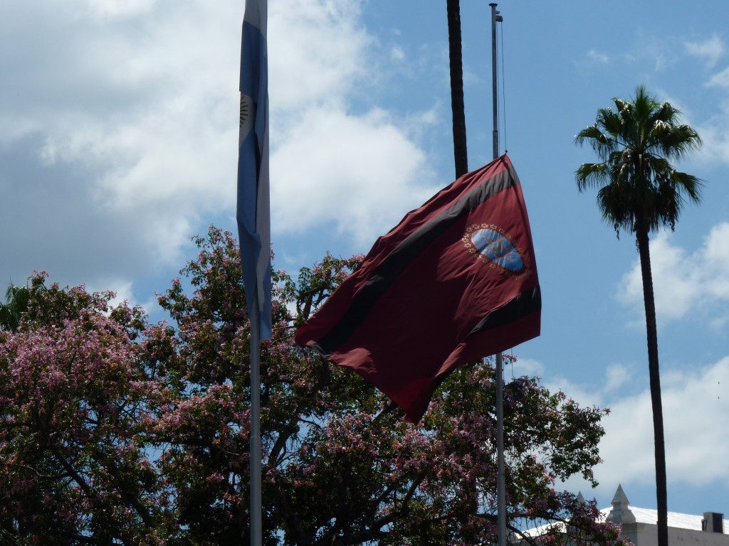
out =
[[[698,149],[701,138],[681,123],[677,108],[659,103],[642,86],[631,100],[613,102],[615,109],[600,108],[595,124],[574,138],[601,160],[580,165],[577,187],[598,190],[603,218],[616,232],[674,229],[685,202],[701,199],[701,181],[679,173],[670,161]]]

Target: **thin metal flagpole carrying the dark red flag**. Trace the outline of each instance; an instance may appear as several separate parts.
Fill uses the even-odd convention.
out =
[[[491,80],[493,82],[494,103],[494,159],[499,157],[499,99],[496,76],[496,21],[502,20],[496,11],[497,4],[491,6]],[[496,355],[496,529],[498,545],[506,546],[506,480],[504,477],[504,359],[502,353]]]

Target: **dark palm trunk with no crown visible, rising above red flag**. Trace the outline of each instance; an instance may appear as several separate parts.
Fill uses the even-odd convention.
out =
[[[456,178],[468,172],[466,110],[463,98],[463,54],[461,51],[460,0],[448,0],[448,56],[451,60],[451,110],[453,111],[453,159]]]

